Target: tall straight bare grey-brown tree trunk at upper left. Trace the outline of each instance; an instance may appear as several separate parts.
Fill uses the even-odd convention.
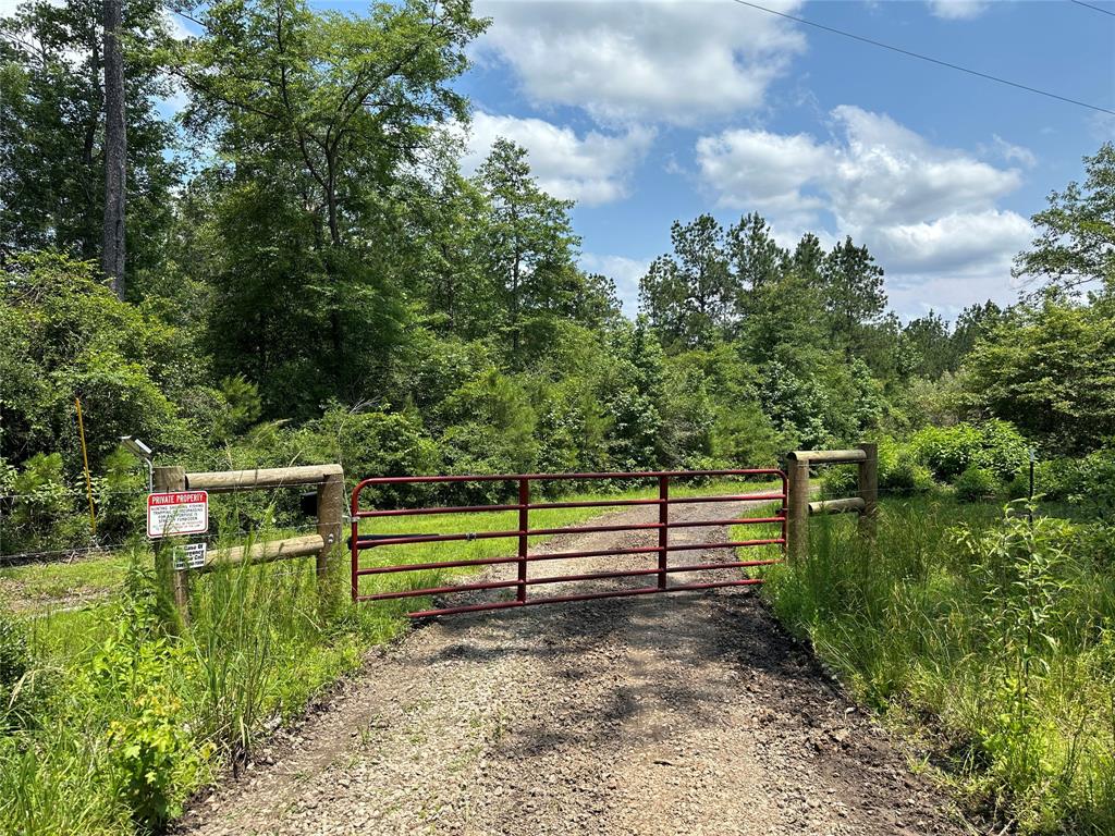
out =
[[[124,208],[127,184],[127,128],[124,114],[123,0],[105,0],[105,223],[100,266],[124,299]]]

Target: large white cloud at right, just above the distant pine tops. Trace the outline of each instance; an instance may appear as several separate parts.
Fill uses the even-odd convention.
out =
[[[866,243],[901,313],[918,312],[909,304],[919,293],[938,309],[954,292],[964,303],[1014,295],[1010,260],[1031,230],[998,202],[1021,184],[1019,169],[934,146],[857,107],[833,110],[832,129],[827,139],[753,129],[702,137],[701,181],[718,205],[758,210],[776,230],[820,229]],[[1032,164],[1025,148],[996,140],[999,156]]]

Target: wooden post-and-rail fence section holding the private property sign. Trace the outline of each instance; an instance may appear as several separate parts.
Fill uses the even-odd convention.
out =
[[[164,589],[174,599],[183,621],[190,619],[190,572],[212,572],[242,563],[270,563],[292,557],[317,556],[319,592],[324,591],[329,554],[341,542],[345,522],[345,472],[340,465],[304,465],[301,467],[256,468],[186,473],[182,467],[156,467],[156,493],[206,490],[232,494],[242,490],[317,485],[317,534],[254,543],[249,546],[215,548],[205,555],[205,564],[193,570],[175,571],[168,550],[155,547],[155,571]]]

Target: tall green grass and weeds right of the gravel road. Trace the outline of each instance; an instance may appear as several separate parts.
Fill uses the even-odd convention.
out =
[[[889,500],[874,548],[822,517],[765,594],[981,813],[1115,833],[1115,534],[1020,511]]]

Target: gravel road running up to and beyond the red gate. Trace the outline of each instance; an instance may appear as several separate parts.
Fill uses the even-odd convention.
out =
[[[698,518],[700,509],[685,513]],[[671,542],[725,535],[680,529]],[[545,548],[647,537],[564,536]],[[730,560],[727,550],[676,556]],[[653,560],[640,557],[622,565]],[[539,565],[547,575],[605,568]],[[500,568],[489,576],[514,572]],[[970,833],[948,807],[777,626],[754,589],[735,587],[419,626],[377,651],[328,710],[280,736],[239,782],[200,800],[181,832]]]

